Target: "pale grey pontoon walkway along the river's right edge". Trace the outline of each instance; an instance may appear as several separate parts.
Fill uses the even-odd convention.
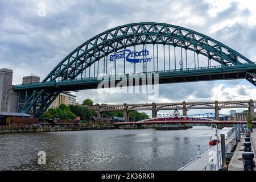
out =
[[[221,143],[218,144],[218,150],[221,151]],[[217,154],[217,145],[204,152],[200,158],[196,158],[186,166],[180,168],[179,171],[203,171],[204,167],[209,163],[209,159],[212,156],[210,155],[212,151],[216,152]]]

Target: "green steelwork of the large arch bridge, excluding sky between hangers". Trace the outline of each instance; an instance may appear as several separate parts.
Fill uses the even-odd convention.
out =
[[[95,88],[94,85],[90,86],[90,84],[97,84],[99,82],[98,73],[100,61],[102,61],[102,65],[104,65],[103,72],[108,73],[108,66],[111,67],[111,65],[108,65],[108,55],[129,47],[133,47],[135,51],[136,46],[142,45],[143,47],[147,47],[148,44],[153,45],[153,50],[155,50],[156,44],[156,70],[155,51],[153,51],[154,71],[147,71],[147,63],[143,63],[143,70],[146,74],[159,73],[159,79],[160,81],[162,79],[162,83],[226,79],[226,74],[228,78],[246,78],[246,80],[256,86],[256,64],[217,40],[209,38],[199,32],[171,24],[132,23],[102,32],[81,44],[81,46],[77,47],[60,61],[48,76],[44,78],[43,82],[29,85],[14,85],[13,88],[19,90],[18,112],[30,113],[38,117],[48,108],[61,91]],[[166,69],[167,67],[164,64],[164,71],[159,71],[159,44],[162,44],[163,47],[168,45],[169,69]],[[170,68],[170,46],[174,47],[174,70]],[[181,48],[181,69],[176,68],[176,47]],[[182,49],[185,49],[185,69],[183,68]],[[188,50],[194,52],[195,68],[188,68]],[[165,49],[163,49],[163,51],[163,61],[165,63]],[[195,54],[197,54],[197,56],[195,56]],[[208,67],[199,67],[199,54],[208,58]],[[212,60],[220,64],[220,66],[211,67]],[[92,73],[90,69],[92,65],[94,65],[92,70],[93,77],[91,77]],[[125,67],[126,64],[124,60],[124,73],[126,72]],[[86,69],[88,70],[86,71]],[[139,74],[136,73],[135,63],[133,69],[134,74]],[[113,71],[115,79],[115,74],[117,73],[116,59],[113,61]],[[214,74],[220,73],[222,73],[223,77],[214,77]],[[89,76],[87,77],[86,74]],[[128,76],[128,74],[126,75]],[[207,75],[209,75],[209,78]],[[213,77],[210,75],[213,75]],[[237,75],[237,77],[234,75]],[[188,80],[189,76],[195,77],[196,80]],[[22,96],[23,92],[26,92],[26,96]],[[22,101],[22,97],[26,97],[26,99]]]

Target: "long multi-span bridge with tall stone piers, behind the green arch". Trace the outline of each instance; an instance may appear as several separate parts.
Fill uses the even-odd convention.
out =
[[[249,109],[249,113],[254,115],[256,101],[209,101],[209,102],[173,102],[173,103],[147,103],[147,104],[119,104],[119,105],[93,105],[88,106],[102,117],[104,111],[123,111],[123,117],[129,121],[129,112],[133,110],[151,110],[152,118],[157,116],[159,110],[182,110],[183,116],[187,116],[189,109],[214,109],[216,120],[220,119],[220,109],[245,108]]]

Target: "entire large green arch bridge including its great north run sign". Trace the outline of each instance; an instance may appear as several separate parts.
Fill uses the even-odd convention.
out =
[[[133,85],[142,85],[134,77],[144,75],[159,84],[245,78],[256,86],[256,64],[225,44],[172,24],[132,23],[84,42],[42,82],[14,85],[17,111],[39,117],[61,92],[96,89],[106,78],[113,87],[118,75]]]

